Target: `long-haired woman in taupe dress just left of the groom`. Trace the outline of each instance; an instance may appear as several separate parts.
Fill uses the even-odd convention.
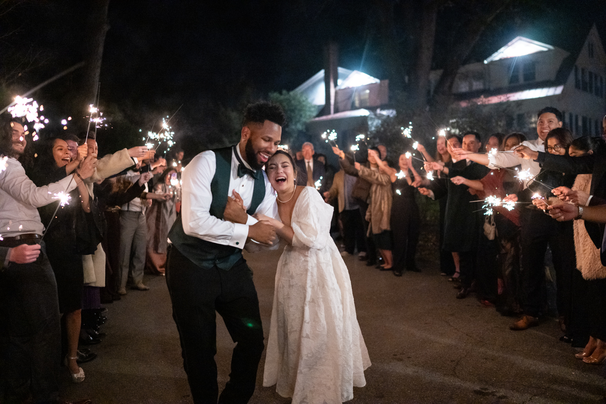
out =
[[[177,171],[170,167],[164,170],[158,183],[153,187],[153,193],[168,196],[168,199],[155,199],[145,212],[147,220],[147,253],[145,267],[152,274],[164,275],[166,253],[168,247],[168,231],[177,217],[175,199],[178,193],[179,180]]]

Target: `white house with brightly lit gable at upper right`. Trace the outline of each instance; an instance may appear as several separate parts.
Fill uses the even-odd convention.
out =
[[[431,90],[441,70],[431,72]],[[518,36],[484,62],[461,67],[453,94],[462,107],[511,102],[507,130],[527,133],[536,113],[556,107],[575,136],[599,136],[606,114],[606,53],[596,26],[574,49]]]

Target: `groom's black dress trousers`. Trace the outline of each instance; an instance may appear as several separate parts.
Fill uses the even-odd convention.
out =
[[[247,403],[264,349],[253,273],[242,259],[230,270],[198,267],[177,248],[168,251],[166,283],[179,331],[183,366],[196,404]],[[218,397],[216,313],[237,345],[230,380]]]

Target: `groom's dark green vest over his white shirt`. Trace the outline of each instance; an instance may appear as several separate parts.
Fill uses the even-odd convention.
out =
[[[210,182],[210,192],[213,200],[209,212],[218,219],[223,219],[223,212],[225,211],[225,205],[227,205],[231,177],[231,150],[233,150],[233,147],[213,150],[216,157],[216,171]],[[253,199],[247,213],[255,213],[264,197],[265,179],[264,176],[261,176],[260,179],[255,179]],[[222,270],[229,270],[242,259],[241,248],[217,244],[185,234],[181,214],[175,220],[173,228],[170,229],[168,238],[170,238],[174,248],[198,267],[210,269],[216,265]]]

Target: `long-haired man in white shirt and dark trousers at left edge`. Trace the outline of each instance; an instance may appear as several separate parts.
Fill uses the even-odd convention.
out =
[[[89,157],[77,173],[36,187],[18,161],[27,146],[25,136],[20,121],[0,123],[0,154],[9,157],[0,171],[0,247],[10,249],[0,271],[0,383],[7,394],[29,392],[34,402],[53,402],[59,391],[61,326],[56,280],[36,208],[78,187],[96,162]]]

